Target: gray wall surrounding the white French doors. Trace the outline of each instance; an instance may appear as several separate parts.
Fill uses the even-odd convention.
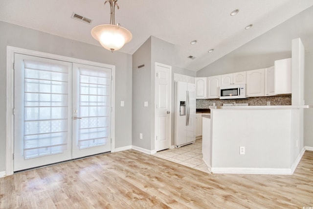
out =
[[[115,147],[132,144],[132,55],[0,22],[0,171],[5,170],[6,46],[115,65]],[[120,107],[120,101],[125,107]]]

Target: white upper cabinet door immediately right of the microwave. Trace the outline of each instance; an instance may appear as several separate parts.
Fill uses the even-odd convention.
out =
[[[246,71],[246,96],[264,96],[265,69]]]

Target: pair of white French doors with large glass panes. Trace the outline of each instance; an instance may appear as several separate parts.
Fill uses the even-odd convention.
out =
[[[14,62],[14,171],[111,150],[111,69]]]

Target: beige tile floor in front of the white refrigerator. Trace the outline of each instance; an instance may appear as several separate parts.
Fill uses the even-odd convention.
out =
[[[202,139],[179,148],[158,151],[154,156],[209,173],[207,165],[202,161]]]

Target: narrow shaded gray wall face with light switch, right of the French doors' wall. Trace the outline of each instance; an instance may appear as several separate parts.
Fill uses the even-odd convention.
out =
[[[145,65],[138,69],[138,66]],[[132,144],[151,150],[151,37],[133,54]],[[148,107],[144,102],[148,101]],[[139,133],[142,138],[139,139]]]

